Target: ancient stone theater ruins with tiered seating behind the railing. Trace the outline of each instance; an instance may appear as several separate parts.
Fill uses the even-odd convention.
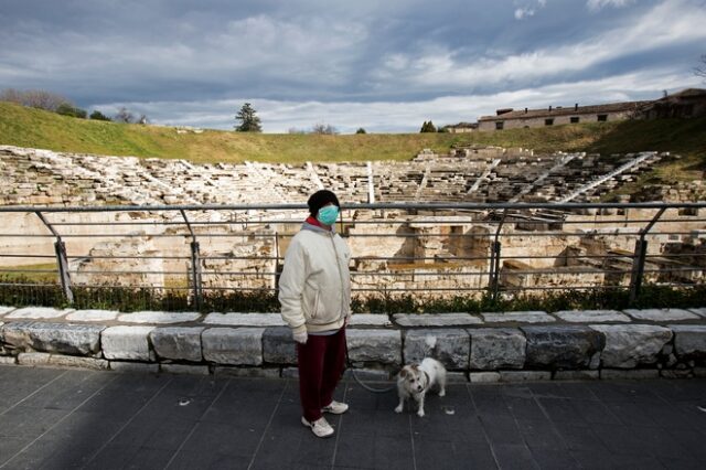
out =
[[[355,203],[569,203],[601,201],[668,153],[538,154],[526,149],[422,150],[414,159],[353,163],[195,164],[184,160],[98,157],[0,147],[3,206],[171,206],[304,203],[317,189]],[[674,202],[706,200],[695,182],[633,196]],[[345,209],[345,207],[344,207]],[[495,269],[501,289],[625,286],[634,234],[654,209],[499,211],[489,207],[414,210],[349,209],[341,229],[353,253],[354,289],[481,292],[493,271],[493,243],[502,237]],[[180,211],[52,213],[69,255],[74,285],[164,287],[188,282],[188,254],[199,237],[203,288],[276,287],[289,236],[306,211],[261,207]],[[670,209],[663,235],[651,239],[645,279],[703,280],[706,226],[697,212]],[[11,232],[46,235],[33,212],[2,213]],[[499,223],[502,221],[502,223]],[[58,225],[57,225],[58,224]],[[100,229],[107,227],[108,229]],[[193,232],[191,232],[193,231]],[[107,233],[109,232],[109,233]],[[85,236],[82,236],[85,235]],[[3,237],[9,255],[53,253],[53,238]],[[663,255],[678,255],[666,257]],[[178,259],[172,259],[178,258]],[[20,259],[20,260],[18,260]],[[36,263],[0,258],[6,266]],[[121,273],[116,276],[114,273]]]

